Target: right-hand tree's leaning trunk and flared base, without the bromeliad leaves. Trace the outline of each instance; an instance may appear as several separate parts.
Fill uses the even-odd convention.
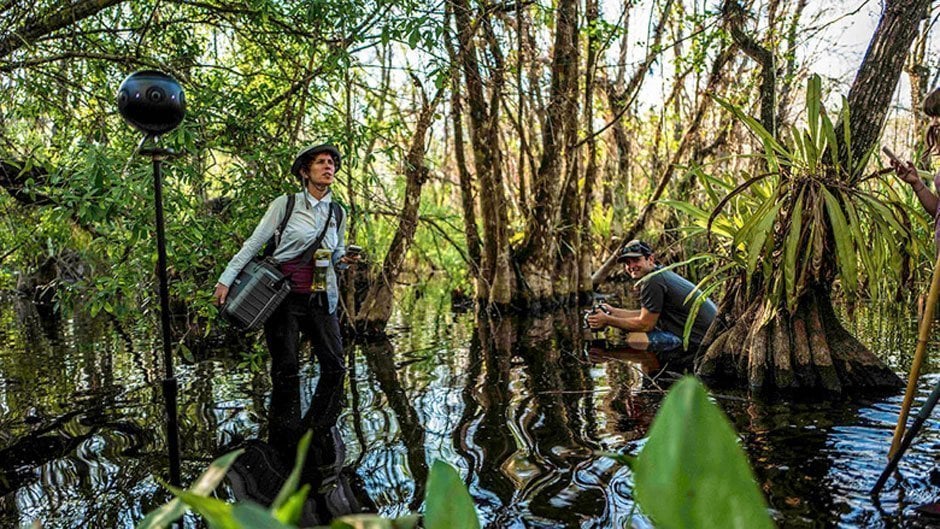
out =
[[[878,28],[849,92],[851,152],[840,144],[847,181],[865,170],[860,161],[875,145],[897,87],[905,57],[926,16],[929,0],[886,2]],[[836,130],[841,127],[836,125]],[[848,162],[852,161],[850,165]],[[834,248],[831,227],[819,232]],[[785,234],[774,233],[775,247]],[[823,259],[816,280],[797,300],[792,314],[785,302],[773,306],[767,293],[740,296],[743,280],[726,292],[716,322],[706,336],[708,348],[696,373],[717,380],[746,381],[751,389],[818,390],[843,393],[898,388],[902,381],[852,336],[832,309],[835,252]],[[759,289],[758,289],[759,290]],[[712,339],[714,338],[714,339]]]

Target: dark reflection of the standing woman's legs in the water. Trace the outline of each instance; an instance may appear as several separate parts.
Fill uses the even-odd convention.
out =
[[[346,445],[336,426],[343,409],[344,372],[323,373],[310,409],[301,417],[300,377],[279,378],[271,393],[268,442],[248,441],[229,480],[238,500],[270,505],[287,480],[297,457],[297,444],[313,431],[310,449],[300,475],[300,485],[310,484],[300,525],[325,525],[333,518],[359,512],[375,512],[359,476],[343,466]]]

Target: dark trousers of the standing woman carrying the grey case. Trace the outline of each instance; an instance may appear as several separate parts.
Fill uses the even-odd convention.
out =
[[[264,339],[271,353],[271,379],[297,374],[300,335],[310,339],[321,372],[346,369],[339,319],[330,314],[326,294],[291,292],[264,324]]]

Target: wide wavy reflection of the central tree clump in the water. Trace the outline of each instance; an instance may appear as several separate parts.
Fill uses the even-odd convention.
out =
[[[591,505],[603,508],[602,491],[575,484],[580,465],[593,459],[588,450],[598,448],[590,366],[571,334],[578,317],[477,320],[454,444],[478,477],[473,493],[495,513],[494,525],[518,523],[522,510],[530,519],[574,522]]]

